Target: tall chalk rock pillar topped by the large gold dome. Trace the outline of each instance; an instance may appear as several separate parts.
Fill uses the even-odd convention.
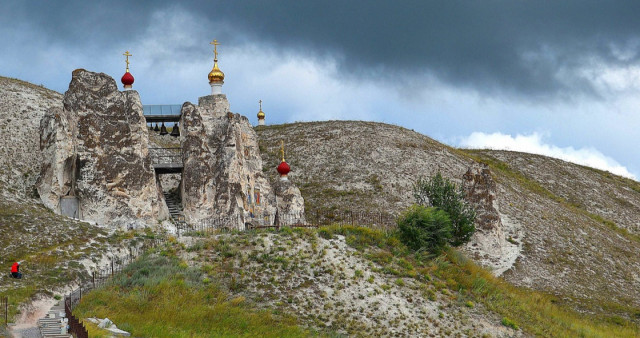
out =
[[[244,229],[275,214],[257,135],[246,117],[229,110],[225,95],[201,97],[198,106],[185,103],[180,127],[187,223]]]

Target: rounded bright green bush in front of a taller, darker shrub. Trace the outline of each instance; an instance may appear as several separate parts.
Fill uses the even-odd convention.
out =
[[[446,212],[414,204],[398,218],[400,240],[414,251],[439,253],[451,240],[451,220]]]

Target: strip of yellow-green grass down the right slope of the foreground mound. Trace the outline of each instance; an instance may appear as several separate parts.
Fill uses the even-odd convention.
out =
[[[447,289],[458,304],[482,304],[500,314],[504,325],[520,327],[527,333],[545,337],[636,337],[640,334],[636,324],[622,318],[580,314],[556,304],[553,296],[512,286],[454,249],[432,259],[420,253],[410,254],[399,241],[393,240],[394,234],[349,226],[326,227],[320,231],[323,236],[346,236],[347,243],[363,252],[382,249],[397,259],[404,259],[409,264],[398,274],[413,276],[440,290]],[[428,291],[425,294],[429,296]]]

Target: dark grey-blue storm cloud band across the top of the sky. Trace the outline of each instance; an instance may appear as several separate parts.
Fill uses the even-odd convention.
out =
[[[135,36],[149,24],[154,9],[180,6],[214,35],[215,27],[232,27],[237,34],[225,36],[228,43],[260,42],[319,59],[334,56],[349,77],[394,82],[432,75],[454,86],[534,97],[591,93],[591,84],[578,73],[590,63],[639,62],[639,1],[46,1],[3,6],[3,20],[76,45]],[[7,16],[7,9],[14,15]]]

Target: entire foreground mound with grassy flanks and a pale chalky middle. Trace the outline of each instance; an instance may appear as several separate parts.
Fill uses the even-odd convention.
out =
[[[454,250],[414,255],[393,234],[354,226],[175,242],[75,313],[154,337],[640,334],[622,318],[579,314],[514,287]]]

